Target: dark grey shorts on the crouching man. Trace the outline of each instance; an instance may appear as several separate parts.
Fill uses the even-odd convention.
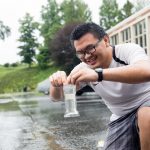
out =
[[[140,150],[137,110],[109,124],[104,150]]]

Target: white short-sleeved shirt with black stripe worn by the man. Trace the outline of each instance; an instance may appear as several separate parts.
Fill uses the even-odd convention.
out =
[[[145,51],[133,43],[116,45],[115,55],[129,65],[140,60],[149,60]],[[79,66],[85,67],[87,65],[81,63],[78,67]],[[112,58],[109,68],[120,66],[124,66],[124,64],[120,64]],[[115,119],[133,111],[143,103],[150,101],[150,82],[126,84],[103,80],[102,82],[98,82],[98,84],[91,82],[89,85],[102,97],[107,107],[115,115]]]

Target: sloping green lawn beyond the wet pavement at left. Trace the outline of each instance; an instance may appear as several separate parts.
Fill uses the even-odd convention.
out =
[[[0,67],[0,93],[21,92],[24,86],[27,86],[29,91],[33,91],[39,82],[56,70],[54,66],[46,70],[40,70],[36,66]]]

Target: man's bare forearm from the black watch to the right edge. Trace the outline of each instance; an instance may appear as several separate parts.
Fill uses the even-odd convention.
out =
[[[106,81],[136,84],[150,81],[150,61],[138,61],[135,64],[103,70]]]

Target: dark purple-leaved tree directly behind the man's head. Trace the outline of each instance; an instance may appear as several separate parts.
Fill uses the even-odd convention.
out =
[[[52,59],[56,66],[61,67],[62,70],[65,70],[67,73],[79,63],[70,43],[70,33],[78,24],[79,23],[76,22],[65,25],[52,40]]]

